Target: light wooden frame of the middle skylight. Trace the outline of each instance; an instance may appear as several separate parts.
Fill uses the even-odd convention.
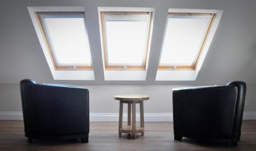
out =
[[[132,15],[136,15],[136,14],[149,14],[150,16],[148,17],[148,31],[147,31],[147,35],[146,35],[146,47],[145,47],[145,51],[144,51],[144,57],[143,57],[143,63],[142,66],[136,66],[136,65],[109,65],[108,64],[108,52],[107,52],[107,48],[106,48],[106,30],[105,30],[105,17],[104,14],[132,14]],[[127,70],[127,71],[131,71],[131,70],[145,70],[146,69],[146,60],[148,59],[148,52],[149,52],[149,48],[150,48],[150,40],[151,40],[151,30],[152,30],[152,20],[153,20],[153,12],[133,12],[133,11],[100,11],[100,21],[101,21],[101,36],[102,36],[102,40],[101,40],[101,44],[102,44],[102,48],[103,48],[103,59],[104,59],[104,69],[105,70]]]

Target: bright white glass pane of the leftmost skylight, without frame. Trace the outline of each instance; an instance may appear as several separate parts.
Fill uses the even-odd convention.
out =
[[[90,65],[90,47],[82,17],[45,17],[58,65]]]

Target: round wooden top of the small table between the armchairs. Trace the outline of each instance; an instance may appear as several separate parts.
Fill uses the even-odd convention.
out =
[[[124,94],[124,95],[114,95],[115,100],[123,101],[144,101],[150,99],[149,95],[143,94]]]

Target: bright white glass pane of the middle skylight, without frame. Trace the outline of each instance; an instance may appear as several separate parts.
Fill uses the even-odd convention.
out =
[[[108,65],[143,65],[147,25],[145,19],[105,21]]]

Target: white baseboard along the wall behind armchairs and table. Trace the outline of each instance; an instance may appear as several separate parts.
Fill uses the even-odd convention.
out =
[[[118,113],[90,113],[90,121],[118,121]],[[244,112],[243,120],[256,119],[256,112]],[[0,112],[0,120],[23,120],[22,112]],[[136,121],[140,120],[140,115],[136,114]],[[127,114],[123,115],[123,121],[127,121]],[[144,113],[144,121],[160,122],[173,121],[173,113]]]

